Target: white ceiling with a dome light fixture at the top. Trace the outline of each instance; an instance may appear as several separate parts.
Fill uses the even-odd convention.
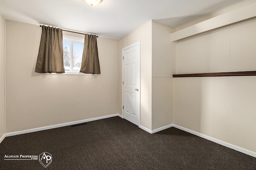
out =
[[[177,28],[243,1],[102,0],[91,7],[84,0],[0,0],[0,14],[6,20],[120,39],[150,20]]]

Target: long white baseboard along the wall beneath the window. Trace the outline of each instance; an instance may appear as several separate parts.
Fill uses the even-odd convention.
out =
[[[113,114],[113,115],[95,117],[95,118],[84,119],[84,120],[79,120],[79,121],[72,121],[72,122],[62,123],[62,124],[58,124],[58,125],[38,127],[38,128],[28,129],[28,130],[24,130],[24,131],[16,131],[16,132],[11,132],[11,133],[6,133],[5,135],[6,135],[6,137],[9,137],[9,136],[20,135],[20,134],[24,134],[24,133],[43,131],[43,130],[47,130],[47,129],[53,129],[53,128],[64,127],[64,126],[69,126],[69,125],[75,125],[75,124],[84,123],[84,122],[88,122],[88,121],[95,121],[95,120],[100,120],[100,119],[106,119],[106,118],[115,117],[115,116],[118,116],[118,115],[119,114]]]

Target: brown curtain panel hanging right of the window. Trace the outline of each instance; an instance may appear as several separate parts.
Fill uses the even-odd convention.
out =
[[[85,74],[100,74],[97,36],[85,34],[84,51],[80,72]]]

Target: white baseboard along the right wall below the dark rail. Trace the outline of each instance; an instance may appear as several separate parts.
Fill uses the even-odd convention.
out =
[[[218,144],[223,145],[223,146],[225,146],[225,147],[228,147],[228,148],[230,148],[230,149],[234,149],[234,150],[237,150],[237,151],[242,152],[242,153],[244,153],[244,154],[248,154],[248,155],[250,155],[250,156],[256,157],[256,152],[252,152],[252,151],[250,151],[250,150],[247,150],[247,149],[238,147],[238,146],[236,146],[236,145],[233,145],[233,144],[230,144],[230,143],[221,141],[221,140],[219,140],[219,139],[215,139],[215,138],[213,138],[213,137],[204,135],[204,134],[202,134],[202,133],[198,133],[198,132],[196,132],[196,131],[192,131],[192,130],[187,129],[187,128],[185,128],[185,127],[181,127],[181,126],[178,126],[178,125],[175,125],[175,124],[173,125],[173,127],[176,127],[177,129],[180,129],[180,130],[182,130],[182,131],[186,131],[186,132],[191,133],[191,134],[193,134],[193,135],[196,135],[196,136],[198,136],[198,137],[202,137],[202,138],[207,139],[207,140],[209,140],[209,141],[218,143]]]

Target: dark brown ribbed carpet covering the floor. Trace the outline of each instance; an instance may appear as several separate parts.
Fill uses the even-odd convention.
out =
[[[52,154],[38,160],[4,160],[5,155]],[[6,137],[1,170],[256,170],[256,158],[171,127],[155,134],[112,117]]]

